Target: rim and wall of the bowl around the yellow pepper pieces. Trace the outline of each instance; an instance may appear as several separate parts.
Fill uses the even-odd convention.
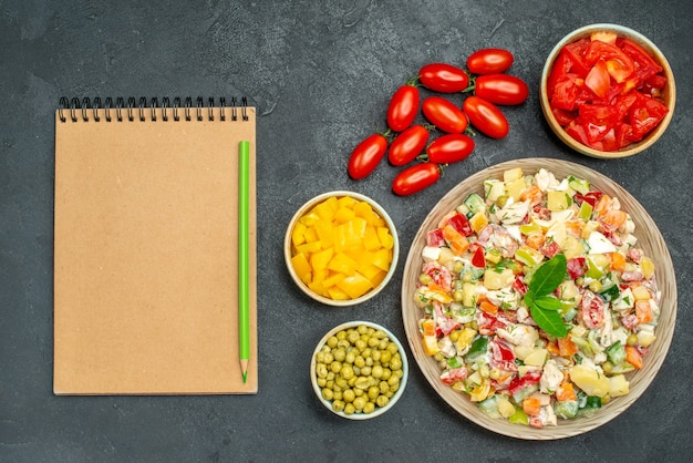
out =
[[[331,299],[329,297],[317,294],[316,291],[311,290],[308,287],[308,285],[306,285],[301,280],[296,269],[291,265],[291,258],[293,256],[293,246],[292,246],[291,235],[292,235],[293,228],[296,227],[297,223],[304,214],[311,210],[319,203],[322,203],[323,200],[332,196],[338,197],[338,198],[343,197],[343,196],[350,196],[354,199],[366,202],[368,204],[370,204],[372,209],[385,222],[385,224],[387,225],[387,228],[390,229],[390,234],[392,235],[392,238],[394,240],[390,269],[387,270],[387,274],[385,275],[384,279],[376,287],[372,288],[371,290],[369,290],[368,292],[365,292],[364,295],[355,299],[337,300],[337,299]],[[335,192],[323,193],[321,195],[313,197],[312,199],[303,204],[296,212],[296,214],[291,218],[291,222],[289,222],[289,226],[287,227],[287,233],[285,236],[283,253],[285,253],[285,261],[287,263],[287,268],[289,270],[289,274],[291,275],[291,278],[306,295],[308,295],[309,297],[311,297],[312,299],[319,302],[327,303],[329,306],[346,307],[346,306],[354,306],[356,303],[361,303],[365,300],[371,299],[372,297],[377,295],[380,291],[382,291],[385,286],[387,286],[387,284],[392,279],[392,276],[394,275],[394,271],[397,267],[397,259],[400,257],[400,239],[397,237],[397,232],[395,229],[394,223],[392,222],[392,218],[390,218],[390,215],[387,215],[385,209],[380,204],[377,204],[375,200],[371,199],[370,197],[364,196],[359,193],[346,192],[346,191],[335,191]]]

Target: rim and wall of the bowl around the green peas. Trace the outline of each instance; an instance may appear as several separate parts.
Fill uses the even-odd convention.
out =
[[[397,352],[400,353],[401,359],[402,359],[402,378],[400,378],[399,389],[390,398],[385,407],[375,407],[375,410],[373,410],[371,413],[358,412],[358,413],[348,414],[348,413],[344,413],[343,411],[335,411],[332,407],[332,401],[325,400],[323,398],[322,388],[318,384],[318,375],[316,373],[316,369],[318,366],[317,356],[320,352],[320,350],[323,348],[323,346],[328,343],[328,339],[330,339],[330,337],[335,336],[338,332],[342,330],[349,330],[352,328],[358,328],[360,326],[364,326],[366,328],[372,328],[376,331],[380,330],[384,332],[387,336],[387,339],[390,339],[390,341],[394,342],[397,346]],[[406,359],[406,352],[404,351],[402,343],[387,328],[382,327],[377,323],[370,322],[370,321],[362,321],[362,320],[349,321],[349,322],[345,322],[345,323],[342,323],[332,328],[322,337],[322,339],[320,339],[320,342],[318,342],[318,346],[316,347],[316,350],[313,351],[313,354],[310,361],[310,382],[313,387],[313,391],[316,392],[316,395],[328,410],[348,420],[369,420],[371,418],[380,416],[381,414],[385,413],[387,410],[392,409],[394,404],[400,400],[402,394],[404,393],[407,379],[408,379],[408,361]]]

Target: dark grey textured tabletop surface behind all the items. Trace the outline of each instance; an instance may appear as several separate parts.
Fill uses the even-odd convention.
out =
[[[579,3],[579,4],[576,4]],[[668,56],[678,88],[669,131],[649,152],[600,161],[570,152],[542,120],[544,60],[569,31],[633,28]],[[693,452],[691,48],[686,1],[53,1],[0,0],[0,461],[681,461]],[[511,131],[478,136],[473,155],[432,188],[396,197],[397,169],[346,176],[355,144],[394,90],[432,61],[511,50],[529,100],[505,110]],[[258,107],[259,393],[248,397],[58,398],[52,393],[53,114],[61,96],[240,96]],[[99,153],[96,153],[97,155]],[[498,162],[548,156],[613,178],[669,244],[679,319],[655,381],[590,433],[554,442],[497,435],[441,400],[415,363],[401,402],[366,422],[319,404],[308,367],[324,331],[346,320],[405,340],[401,275],[426,213],[457,182]],[[397,274],[374,300],[333,309],[286,270],[296,209],[331,189],[366,194],[402,241]]]

